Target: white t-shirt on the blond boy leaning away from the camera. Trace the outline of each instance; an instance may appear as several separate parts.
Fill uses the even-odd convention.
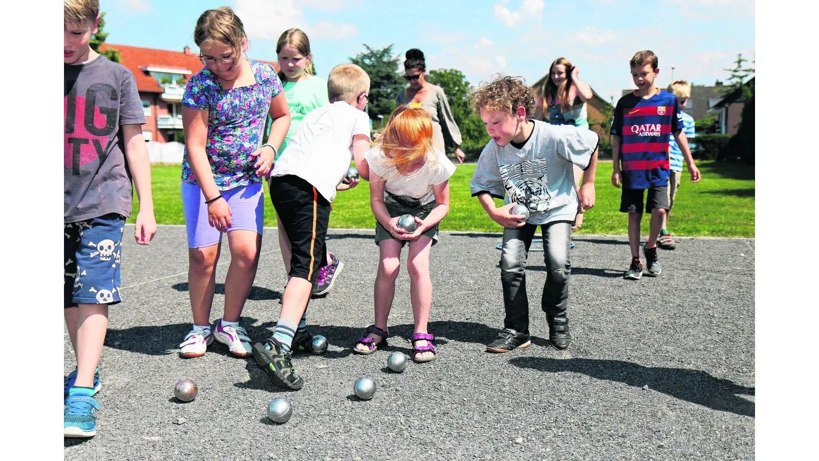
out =
[[[364,111],[344,101],[317,107],[301,120],[270,176],[299,176],[333,202],[336,186],[350,168],[355,135],[369,138],[369,117]]]

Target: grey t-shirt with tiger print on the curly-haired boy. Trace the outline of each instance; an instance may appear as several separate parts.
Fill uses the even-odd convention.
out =
[[[577,192],[572,163],[586,169],[600,136],[571,125],[533,121],[532,135],[522,148],[494,140],[483,148],[469,181],[473,196],[488,192],[504,203],[524,203],[529,224],[574,221]]]

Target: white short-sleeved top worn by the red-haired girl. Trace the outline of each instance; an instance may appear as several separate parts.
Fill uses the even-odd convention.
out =
[[[449,158],[438,149],[434,149],[428,154],[427,162],[417,171],[404,176],[398,173],[398,169],[393,167],[389,159],[384,155],[381,148],[371,148],[367,151],[367,163],[370,171],[384,178],[384,198],[393,196],[403,196],[412,205],[426,205],[435,200],[432,192],[433,185],[439,185],[450,179],[455,173],[455,165]],[[435,156],[435,157],[432,157]],[[437,162],[431,162],[437,157]]]

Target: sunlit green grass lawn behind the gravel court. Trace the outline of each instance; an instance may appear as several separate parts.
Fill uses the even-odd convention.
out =
[[[703,179],[690,183],[688,172],[676,195],[669,221],[674,235],[753,237],[754,179],[753,167],[737,163],[699,162]],[[450,213],[441,222],[441,230],[477,230],[500,232],[495,221],[486,216],[477,199],[469,194],[469,179],[474,165],[461,165],[450,179]],[[184,224],[179,188],[179,165],[152,167],[154,211],[159,224]],[[597,202],[586,212],[579,234],[618,235],[627,233],[627,216],[619,212],[620,189],[611,185],[612,164],[601,162],[595,181]],[[265,226],[276,226],[273,205],[265,198]],[[134,212],[137,203],[134,194]],[[501,203],[500,200],[496,200]],[[374,228],[375,218],[369,209],[369,183],[361,181],[355,189],[337,194],[330,214],[330,227]],[[643,233],[648,234],[649,219],[643,219]]]

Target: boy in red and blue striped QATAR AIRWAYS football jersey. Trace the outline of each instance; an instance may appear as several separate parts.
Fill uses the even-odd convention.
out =
[[[644,210],[644,191],[648,190],[645,210],[651,213],[649,240],[645,243],[646,272],[660,275],[657,239],[668,210],[668,139],[673,135],[686,160],[691,182],[699,181],[699,170],[691,158],[683,134],[682,116],[676,96],[654,87],[659,75],[654,52],[637,52],[629,62],[631,78],[637,89],[620,98],[612,123],[612,184],[620,187],[620,211],[629,213],[628,244],[631,266],[624,278],[638,280],[643,275],[640,262],[640,221]]]

